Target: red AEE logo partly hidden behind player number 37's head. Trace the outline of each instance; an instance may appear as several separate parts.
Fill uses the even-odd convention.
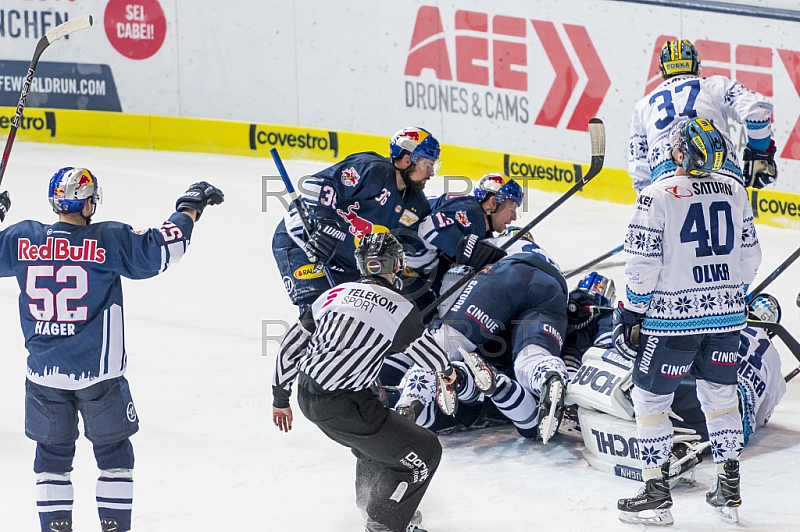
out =
[[[659,68],[661,47],[666,41],[674,41],[674,35],[659,35],[653,46],[653,56],[650,60],[650,71],[647,74],[647,86],[644,93],[649,94],[663,80]],[[750,90],[760,92],[770,98],[774,94],[772,78],[772,48],[764,46],[751,46],[739,44],[733,47],[730,43],[719,41],[697,40],[694,41],[697,54],[700,56],[703,77],[725,76],[739,81]],[[775,50],[781,58],[786,69],[786,75],[794,86],[795,92],[800,95],[800,52],[793,50]],[[721,66],[712,66],[721,65]],[[730,65],[727,67],[726,65]],[[780,74],[778,79],[783,77]],[[800,118],[792,128],[786,145],[780,153],[785,159],[800,160]]]

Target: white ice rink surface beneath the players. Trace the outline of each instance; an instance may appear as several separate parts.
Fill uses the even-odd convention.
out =
[[[158,227],[195,181],[212,182],[226,197],[203,215],[180,264],[154,279],[124,281],[127,377],[141,420],[132,438],[133,530],[363,530],[350,452],[306,421],[294,399],[292,432],[280,433],[272,425],[270,383],[278,344],[263,341],[262,324],[296,317],[270,246],[283,207],[273,197],[262,212],[261,176],[277,175],[272,161],[19,142],[2,184],[13,199],[4,226],[28,218],[56,220],[46,199],[47,182],[63,166],[85,166],[98,177],[105,198],[96,221],[119,220],[135,229]],[[287,162],[295,180],[323,166]],[[270,187],[277,188],[277,183]],[[441,191],[436,178],[426,190]],[[556,198],[528,191],[520,221]],[[576,196],[534,236],[567,270],[615,247],[631,209]],[[800,245],[796,230],[758,226],[758,231],[764,261],[756,283]],[[619,292],[624,278],[618,257],[600,271],[616,280]],[[796,336],[798,272],[800,265],[794,265],[768,289],[781,301],[782,323]],[[35,445],[24,435],[26,351],[17,294],[15,280],[0,280],[0,530],[9,532],[39,528]],[[281,332],[277,325],[267,328],[268,335]],[[799,362],[783,345],[779,350],[785,374]],[[738,527],[722,523],[705,503],[714,475],[709,459],[698,466],[696,487],[673,491],[671,530],[800,530],[798,412],[800,378],[788,385],[770,424],[745,448]],[[616,500],[633,495],[639,484],[589,467],[577,441],[562,436],[543,446],[512,428],[441,441],[442,464],[421,505],[430,532],[645,529],[617,520]],[[96,478],[91,445],[82,436],[72,475],[76,531],[99,529]]]

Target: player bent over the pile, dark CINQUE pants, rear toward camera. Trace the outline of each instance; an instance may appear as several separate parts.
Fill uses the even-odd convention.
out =
[[[502,245],[515,231],[491,241]],[[567,285],[529,234],[509,253],[453,296],[435,336],[459,374],[459,403],[477,403],[483,394],[520,434],[546,443],[563,416],[567,368],[559,355],[567,331]],[[398,408],[408,412],[415,400],[418,410],[430,404],[432,382],[430,373],[412,368]],[[433,426],[437,414],[432,406],[423,410],[419,423]]]

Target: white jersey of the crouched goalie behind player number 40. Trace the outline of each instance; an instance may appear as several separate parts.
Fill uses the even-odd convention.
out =
[[[764,329],[745,327],[739,337],[738,381],[744,441],[763,427],[786,394],[781,357]]]

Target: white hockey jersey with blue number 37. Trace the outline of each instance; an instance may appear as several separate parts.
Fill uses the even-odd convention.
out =
[[[657,179],[674,175],[669,130],[678,120],[695,117],[710,120],[720,130],[728,141],[728,160],[721,173],[742,181],[728,120],[746,125],[750,139],[766,144],[772,136],[771,115],[772,104],[761,94],[725,76],[699,78],[685,74],[665,80],[633,110],[628,154],[633,188],[642,190]]]

